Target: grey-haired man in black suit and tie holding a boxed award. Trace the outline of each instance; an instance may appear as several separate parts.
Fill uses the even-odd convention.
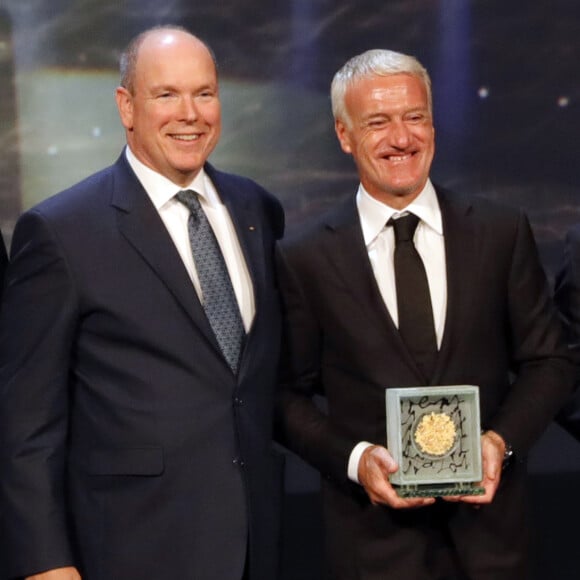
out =
[[[572,388],[528,221],[433,186],[430,80],[414,58],[359,55],[331,96],[360,186],[279,258],[281,432],[323,475],[329,577],[526,578],[525,456]],[[396,240],[394,220],[414,234]],[[406,239],[423,281],[405,292],[394,255]],[[421,321],[408,305],[420,286]],[[413,333],[429,329],[431,346],[417,346]],[[385,388],[423,385],[479,386],[483,495],[403,499],[391,486]]]

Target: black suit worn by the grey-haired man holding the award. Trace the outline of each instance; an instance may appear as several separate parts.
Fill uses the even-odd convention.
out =
[[[571,364],[521,212],[438,190],[447,264],[445,331],[432,384],[480,387],[482,426],[523,458],[571,390]],[[394,512],[347,480],[359,441],[385,444],[386,387],[425,384],[383,303],[353,199],[280,250],[287,358],[282,437],[324,476],[334,579],[423,579],[451,545],[469,578],[523,578],[523,472],[480,510]],[[313,403],[322,392],[327,413]],[[458,566],[458,562],[460,565]]]

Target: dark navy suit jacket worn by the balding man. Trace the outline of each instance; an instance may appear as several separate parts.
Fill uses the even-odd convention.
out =
[[[19,220],[0,319],[2,554],[9,576],[276,577],[271,449],[279,203],[206,167],[256,316],[239,375],[122,155]]]

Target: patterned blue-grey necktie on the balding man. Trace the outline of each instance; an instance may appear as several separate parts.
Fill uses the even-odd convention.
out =
[[[230,368],[238,372],[245,331],[234,288],[215,234],[194,191],[180,191],[189,209],[188,232],[205,314]]]

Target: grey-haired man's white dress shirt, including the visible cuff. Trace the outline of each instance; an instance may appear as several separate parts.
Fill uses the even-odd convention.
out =
[[[386,224],[391,218],[397,219],[407,213],[413,213],[420,218],[413,240],[425,265],[437,347],[441,347],[447,310],[447,270],[443,220],[431,181],[427,181],[423,191],[403,211],[376,200],[362,185],[359,186],[356,203],[373,273],[383,301],[397,327],[399,316],[393,261],[395,233],[393,228]],[[370,445],[366,441],[361,441],[352,450],[348,462],[348,477],[352,481],[358,482],[358,463],[363,451]]]

